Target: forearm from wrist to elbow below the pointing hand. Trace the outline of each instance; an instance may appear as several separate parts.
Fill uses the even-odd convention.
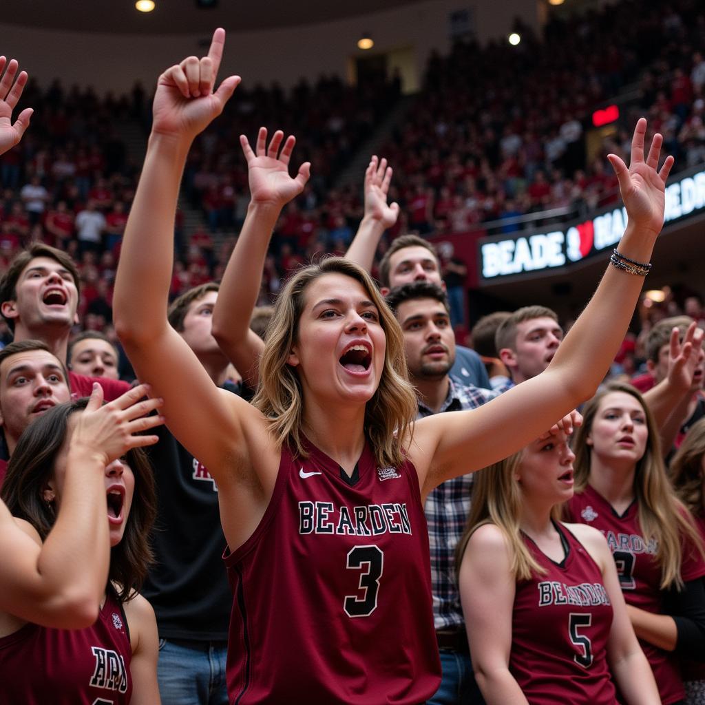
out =
[[[130,209],[115,282],[121,338],[149,337],[166,325],[173,266],[173,227],[190,141],[152,133]]]

